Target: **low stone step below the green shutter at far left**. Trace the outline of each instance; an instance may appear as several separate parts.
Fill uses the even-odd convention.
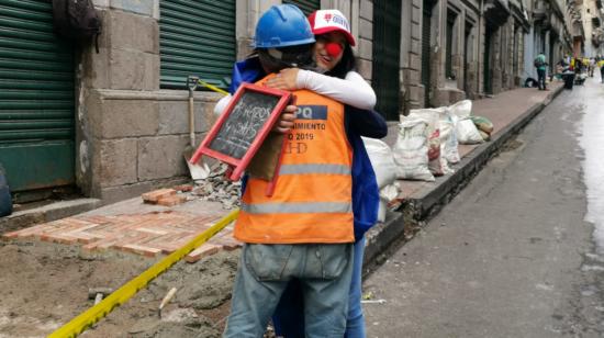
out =
[[[14,232],[32,224],[52,222],[101,206],[101,200],[77,199],[14,212],[0,218],[0,234]]]

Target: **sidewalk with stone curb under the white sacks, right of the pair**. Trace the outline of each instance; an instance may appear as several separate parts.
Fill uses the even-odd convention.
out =
[[[502,146],[561,91],[563,82],[548,83],[549,91],[536,88],[519,88],[497,94],[494,98],[472,102],[472,115],[484,116],[494,124],[491,140],[480,145],[459,145],[461,161],[452,165],[452,174],[437,177],[435,182],[400,181],[403,200],[396,212],[389,212],[383,224],[374,226],[366,235],[365,264],[373,262],[395,240],[404,240],[403,233],[411,238],[414,229],[429,219],[447,204],[495,156]],[[396,140],[398,124],[390,125],[385,143],[392,146]],[[404,232],[404,227],[407,232]]]

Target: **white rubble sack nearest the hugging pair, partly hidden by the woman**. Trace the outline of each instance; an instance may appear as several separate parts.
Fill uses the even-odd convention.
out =
[[[369,155],[373,171],[376,172],[378,188],[382,189],[394,182],[396,180],[396,164],[394,162],[390,146],[376,138],[361,138],[362,143],[365,143],[365,148],[367,149],[367,155]]]

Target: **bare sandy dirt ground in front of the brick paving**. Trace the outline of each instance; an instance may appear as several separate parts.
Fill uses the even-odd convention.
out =
[[[220,337],[238,254],[175,264],[81,337]],[[155,262],[125,252],[0,241],[0,338],[45,337],[93,305],[89,288],[115,290]],[[157,308],[171,288],[178,291],[159,318]]]

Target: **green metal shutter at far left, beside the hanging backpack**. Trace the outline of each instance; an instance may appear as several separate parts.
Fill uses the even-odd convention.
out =
[[[0,0],[0,162],[11,190],[74,179],[72,48],[49,0]]]

